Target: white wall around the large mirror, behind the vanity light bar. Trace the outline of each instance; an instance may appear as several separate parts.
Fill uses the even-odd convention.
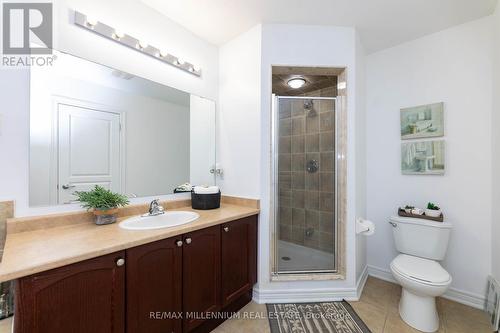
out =
[[[134,0],[61,0],[55,6],[55,47],[63,51],[121,69],[137,76],[216,100],[218,94],[218,49]],[[201,78],[157,62],[134,50],[78,28],[71,23],[70,9],[77,9],[152,45],[199,64]],[[120,15],[117,15],[117,12]],[[29,75],[26,70],[2,70],[0,76],[0,199],[16,201],[16,215],[33,215],[64,208],[28,207]],[[144,202],[149,198],[137,199]]]

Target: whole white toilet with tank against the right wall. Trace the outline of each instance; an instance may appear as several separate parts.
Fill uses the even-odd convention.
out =
[[[439,264],[444,259],[451,224],[408,217],[391,217],[396,249],[392,275],[403,288],[399,314],[410,326],[423,332],[439,329],[436,296],[451,284],[451,276]]]

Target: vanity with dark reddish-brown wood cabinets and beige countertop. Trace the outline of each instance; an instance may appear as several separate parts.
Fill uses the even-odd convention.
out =
[[[197,213],[159,230],[75,223],[8,235],[0,279],[18,277],[14,332],[210,332],[252,299],[258,209]],[[42,244],[50,251],[37,254]]]

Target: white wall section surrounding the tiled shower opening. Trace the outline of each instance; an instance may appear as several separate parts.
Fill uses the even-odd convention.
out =
[[[259,224],[259,285],[257,293],[264,300],[321,297],[349,297],[356,286],[356,246],[354,218],[356,203],[355,186],[355,112],[356,112],[356,55],[353,28],[265,24],[262,26],[262,83],[261,83],[261,142],[254,149],[260,150]],[[270,196],[271,196],[271,75],[272,65],[347,67],[348,78],[348,193],[346,280],[273,282],[270,277]],[[302,296],[303,290],[307,296]],[[336,295],[336,296],[335,296]],[[352,294],[351,294],[352,295]],[[283,298],[281,298],[283,299]]]

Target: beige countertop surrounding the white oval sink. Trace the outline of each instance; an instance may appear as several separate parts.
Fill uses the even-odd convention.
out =
[[[259,213],[256,207],[224,201],[219,209],[196,210],[200,217],[192,223],[165,229],[125,230],[120,228],[118,223],[96,226],[89,221],[80,221],[23,232],[8,231],[0,263],[0,282]],[[170,210],[194,211],[191,207],[176,207]],[[124,218],[119,218],[119,221]]]

